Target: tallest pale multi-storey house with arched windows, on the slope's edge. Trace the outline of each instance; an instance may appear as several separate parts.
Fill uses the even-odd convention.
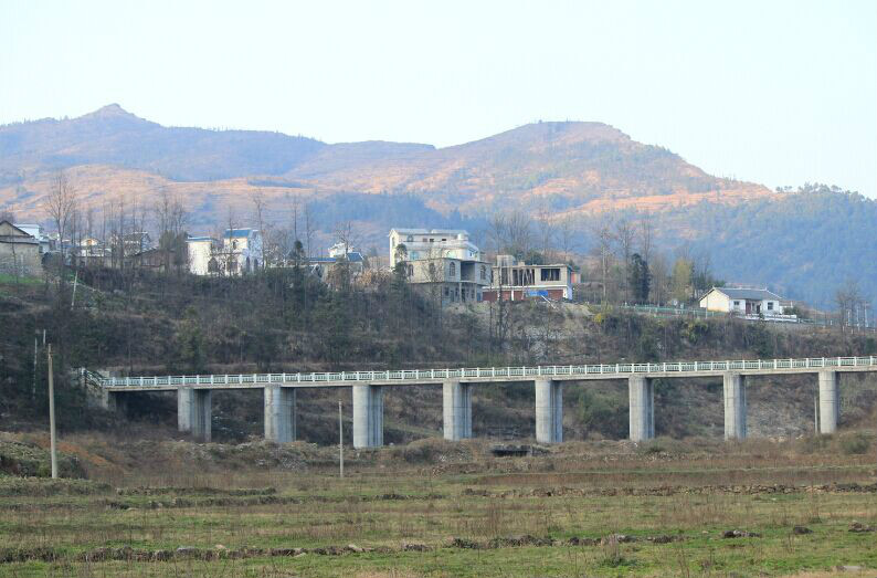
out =
[[[443,304],[479,302],[490,284],[490,265],[482,251],[458,229],[392,229],[390,266]]]

